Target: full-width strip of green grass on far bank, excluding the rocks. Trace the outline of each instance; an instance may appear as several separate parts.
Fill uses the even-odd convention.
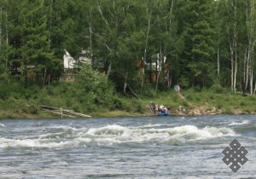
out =
[[[5,90],[4,90],[5,88]],[[2,88],[0,95],[0,118],[59,118],[60,116],[45,113],[38,109],[38,105],[62,107],[78,113],[89,114],[93,117],[142,116],[151,115],[148,111],[150,101],[172,108],[177,107],[216,107],[222,113],[256,113],[256,95],[233,94],[229,90],[183,90],[181,99],[177,93],[170,89],[157,95],[140,96],[137,99],[127,98],[114,94],[101,101],[101,98],[81,95],[71,84],[58,83],[50,87],[37,86],[24,89],[21,85],[15,87],[8,85]],[[8,90],[8,91],[6,91]],[[1,91],[0,91],[1,92]],[[192,105],[190,106],[189,103]]]

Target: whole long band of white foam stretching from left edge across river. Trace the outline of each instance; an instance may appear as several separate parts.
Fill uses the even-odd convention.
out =
[[[205,127],[200,129],[195,125],[171,127],[166,124],[148,124],[147,126],[151,126],[151,128],[145,128],[145,125],[134,128],[118,124],[90,129],[59,126],[57,128],[61,130],[50,130],[38,136],[0,137],[0,147],[86,147],[90,145],[90,141],[99,145],[125,142],[178,143],[179,141],[186,142],[207,140],[221,136],[236,136],[234,130],[225,127]],[[157,128],[160,126],[164,128]],[[56,127],[53,129],[56,129]]]

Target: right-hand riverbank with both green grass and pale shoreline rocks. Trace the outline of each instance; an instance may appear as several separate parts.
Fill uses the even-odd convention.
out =
[[[172,114],[176,116],[256,114],[256,95],[234,94],[224,89],[184,90],[180,95],[170,92],[154,102],[171,107]]]

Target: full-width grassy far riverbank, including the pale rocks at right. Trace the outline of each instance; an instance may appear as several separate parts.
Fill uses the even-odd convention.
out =
[[[45,96],[44,102],[49,101]],[[212,90],[184,90],[177,95],[174,90],[162,92],[158,95],[143,97],[140,99],[119,98],[119,107],[109,110],[108,107],[98,108],[96,111],[86,111],[73,101],[70,108],[63,105],[59,97],[51,96],[50,105],[66,107],[79,113],[84,113],[95,118],[102,117],[134,117],[151,116],[148,104],[154,101],[159,105],[171,107],[170,112],[174,116],[199,116],[217,114],[255,114],[256,95],[231,94],[229,92],[217,93]],[[45,104],[44,105],[48,105]],[[38,101],[27,99],[9,98],[0,101],[0,118],[61,118],[59,114],[41,111]],[[95,106],[95,104],[94,104]],[[96,107],[95,107],[96,108]],[[77,110],[76,110],[77,109]]]

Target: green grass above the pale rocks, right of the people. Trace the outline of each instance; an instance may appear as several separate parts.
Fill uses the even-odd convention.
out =
[[[181,99],[176,91],[169,90],[156,95],[154,98],[143,98],[142,104],[146,106],[150,101],[171,107],[172,111],[177,107],[193,108],[207,107],[212,109],[215,107],[226,114],[234,113],[256,113],[256,95],[234,94],[229,90],[183,90],[181,93],[185,97],[185,101]]]

